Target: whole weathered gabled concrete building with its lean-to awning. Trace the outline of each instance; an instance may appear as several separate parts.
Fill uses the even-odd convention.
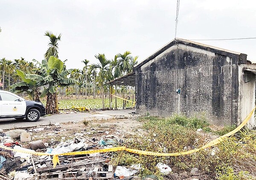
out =
[[[239,125],[255,106],[256,64],[246,58],[175,39],[134,67],[133,73],[110,84],[135,85],[139,114],[205,113],[212,124]],[[247,126],[256,126],[254,117]]]

